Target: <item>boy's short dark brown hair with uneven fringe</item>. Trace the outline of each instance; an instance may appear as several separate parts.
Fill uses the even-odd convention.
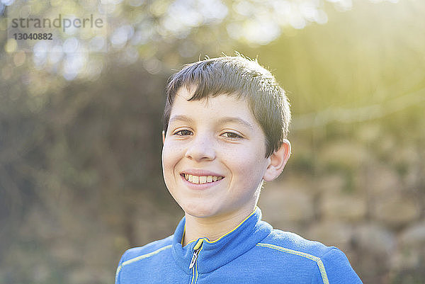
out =
[[[184,86],[195,86],[190,101],[220,94],[243,98],[266,136],[266,157],[270,157],[288,136],[290,108],[285,91],[274,76],[256,60],[217,57],[186,64],[169,79],[164,109],[164,132],[167,132],[176,93]]]

